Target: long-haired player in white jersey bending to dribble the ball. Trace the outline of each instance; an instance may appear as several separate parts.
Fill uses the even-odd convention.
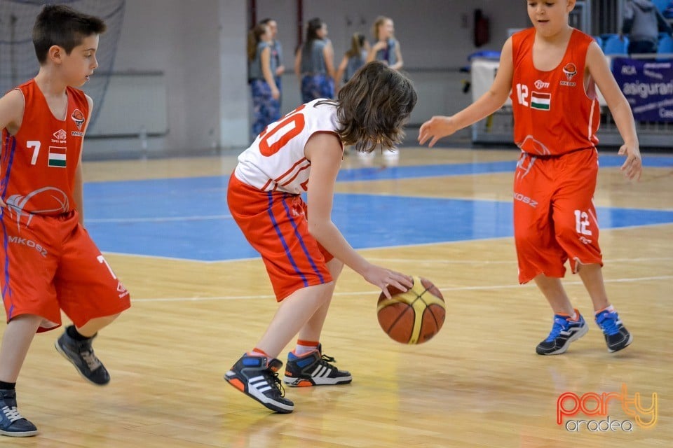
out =
[[[362,258],[331,214],[344,145],[362,152],[392,148],[415,104],[409,79],[382,62],[370,62],[355,72],[336,101],[315,99],[299,106],[268,125],[238,157],[227,191],[229,210],[261,254],[280,307],[254,349],[224,379],[274,412],[294,410],[278,379],[283,363],[277,357],[295,335],[286,384],[351,382],[351,374],[337,369],[320,345],[334,282],[344,265],[386,295],[387,286],[412,286],[408,276]],[[304,192],[308,204],[301,199]]]

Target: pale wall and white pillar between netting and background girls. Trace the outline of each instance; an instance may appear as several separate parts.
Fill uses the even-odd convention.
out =
[[[168,134],[147,150],[140,138],[89,139],[88,158],[245,146],[246,16],[240,0],[128,0],[114,71],[164,73]]]

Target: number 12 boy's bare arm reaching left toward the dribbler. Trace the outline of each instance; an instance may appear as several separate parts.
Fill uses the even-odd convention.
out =
[[[500,55],[500,65],[493,84],[488,92],[484,93],[477,101],[454,116],[435,116],[423,123],[419,132],[419,143],[425,144],[430,140],[430,148],[435,146],[437,140],[447,137],[457,130],[463,129],[477,123],[500,109],[507,100],[510,90],[512,90],[512,76],[514,72],[514,62],[512,62],[512,38],[508,38],[503,45],[503,51]]]

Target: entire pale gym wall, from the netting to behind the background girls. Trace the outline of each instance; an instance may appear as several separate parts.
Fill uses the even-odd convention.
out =
[[[146,151],[137,138],[88,139],[85,154],[186,154],[247,145],[247,8],[245,0],[127,0],[114,70],[164,73],[168,134],[150,138]],[[257,0],[257,20],[276,19],[285,50],[283,111],[300,102],[292,73],[296,8],[296,0]],[[491,42],[480,50],[499,50],[508,28],[529,25],[525,3],[518,0],[304,0],[304,22],[313,17],[327,22],[338,63],[353,32],[363,31],[371,39],[376,16],[393,18],[405,70],[419,90],[412,123],[421,123],[470,101],[461,92],[461,79],[467,76],[457,70],[477,50],[472,36],[475,8],[482,8],[491,21]]]

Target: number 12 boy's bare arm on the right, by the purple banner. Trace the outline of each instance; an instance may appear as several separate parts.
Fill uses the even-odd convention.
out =
[[[643,172],[643,162],[631,106],[612,75],[605,55],[595,42],[592,42],[587,50],[586,66],[594,83],[603,94],[619,134],[624,140],[624,144],[619,148],[621,155],[626,154],[626,161],[621,170],[627,179],[639,180]]]

